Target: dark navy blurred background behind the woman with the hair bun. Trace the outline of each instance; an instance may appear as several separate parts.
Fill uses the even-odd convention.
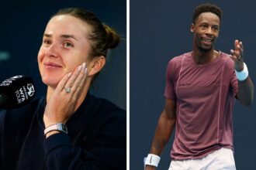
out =
[[[9,0],[0,4],[1,82],[10,76],[31,76],[36,83],[36,95],[44,95],[46,86],[40,78],[37,53],[47,22],[59,8],[86,8],[123,37],[109,53],[108,63],[91,93],[126,109],[126,0]]]

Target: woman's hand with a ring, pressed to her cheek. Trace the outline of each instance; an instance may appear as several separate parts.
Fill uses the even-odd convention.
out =
[[[47,101],[43,114],[43,122],[46,128],[51,124],[65,124],[74,114],[78,107],[81,93],[85,88],[87,75],[87,67],[83,63],[73,73],[67,73],[58,83],[54,93],[52,93]]]

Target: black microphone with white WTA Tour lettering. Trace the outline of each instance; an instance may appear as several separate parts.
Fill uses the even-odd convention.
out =
[[[12,76],[0,84],[0,108],[11,110],[28,104],[36,95],[33,80],[28,76]]]

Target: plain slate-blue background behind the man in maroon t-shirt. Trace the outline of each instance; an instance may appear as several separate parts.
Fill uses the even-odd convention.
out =
[[[196,5],[212,2],[223,9],[216,49],[230,53],[234,40],[244,43],[244,59],[256,83],[256,2],[130,0],[130,169],[143,169],[158,117],[164,107],[165,70],[174,56],[192,50],[192,12]],[[256,85],[255,85],[256,86]],[[234,152],[237,169],[256,169],[256,101],[234,108]],[[168,169],[172,142],[157,169]]]

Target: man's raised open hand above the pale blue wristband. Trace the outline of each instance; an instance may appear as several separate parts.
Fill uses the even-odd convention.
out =
[[[244,70],[243,43],[236,39],[234,42],[234,49],[231,49],[230,53],[232,54],[230,58],[234,60],[234,69],[237,70],[237,72]]]

